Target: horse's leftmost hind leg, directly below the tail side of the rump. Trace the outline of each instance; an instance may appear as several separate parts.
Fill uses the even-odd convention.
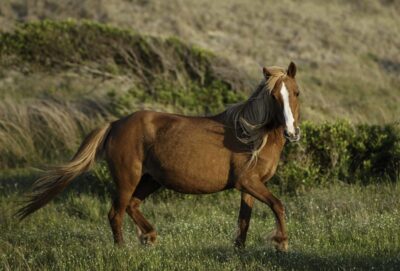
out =
[[[108,213],[108,218],[110,220],[114,242],[121,245],[123,243],[122,222],[126,208],[140,180],[141,164],[138,162],[136,166],[130,167],[129,169],[124,166],[117,167],[116,165],[110,164],[110,169],[117,185],[117,195]]]

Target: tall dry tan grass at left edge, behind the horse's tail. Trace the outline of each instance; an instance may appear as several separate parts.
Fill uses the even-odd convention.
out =
[[[74,153],[82,135],[107,116],[104,108],[87,106],[56,100],[1,101],[0,168],[54,162]]]

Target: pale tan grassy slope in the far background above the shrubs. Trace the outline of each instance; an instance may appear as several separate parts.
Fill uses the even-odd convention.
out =
[[[253,79],[259,64],[299,64],[303,116],[382,123],[400,114],[398,1],[19,1],[0,4],[16,21],[92,19],[177,36],[227,57]]]

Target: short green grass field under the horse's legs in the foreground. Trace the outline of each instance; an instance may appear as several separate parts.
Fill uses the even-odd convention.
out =
[[[155,246],[137,242],[125,218],[126,245],[114,247],[108,197],[74,188],[22,223],[12,218],[18,191],[31,180],[2,176],[0,269],[3,270],[399,270],[400,186],[335,183],[298,196],[287,209],[289,252],[266,236],[272,212],[257,203],[247,247],[233,239],[239,193],[182,196],[162,191],[142,206],[158,230]],[[32,179],[32,178],[28,178]],[[15,185],[12,185],[15,183]],[[21,183],[21,186],[16,184]],[[80,191],[93,184],[76,183]],[[16,187],[18,187],[16,189]],[[93,188],[93,187],[92,187]]]

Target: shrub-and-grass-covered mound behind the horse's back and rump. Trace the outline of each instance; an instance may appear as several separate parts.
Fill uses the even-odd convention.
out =
[[[94,126],[140,108],[221,111],[249,85],[226,59],[175,37],[88,21],[1,33],[0,67],[0,168],[68,157]]]

